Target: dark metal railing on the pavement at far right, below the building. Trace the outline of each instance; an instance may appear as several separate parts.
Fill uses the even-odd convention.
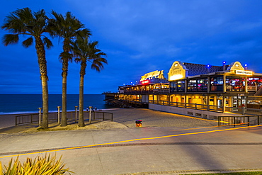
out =
[[[236,125],[259,125],[261,115],[253,116],[218,116],[218,126],[236,126]]]

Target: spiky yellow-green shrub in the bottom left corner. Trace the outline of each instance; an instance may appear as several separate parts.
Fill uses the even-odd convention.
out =
[[[13,162],[13,158],[4,165],[2,169],[0,162],[0,175],[58,175],[65,174],[66,172],[73,173],[69,169],[64,169],[60,157],[57,161],[56,156],[50,157],[50,154],[45,154],[45,157],[36,157],[35,159],[27,158],[25,162],[20,162],[18,157]]]

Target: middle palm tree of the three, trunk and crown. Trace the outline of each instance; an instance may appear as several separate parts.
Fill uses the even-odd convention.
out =
[[[72,13],[67,12],[65,16],[52,11],[55,19],[51,20],[52,36],[63,38],[63,52],[59,55],[62,62],[62,119],[61,126],[67,125],[67,72],[69,62],[72,62],[71,44],[76,37],[91,35],[89,29],[83,29],[84,25]]]

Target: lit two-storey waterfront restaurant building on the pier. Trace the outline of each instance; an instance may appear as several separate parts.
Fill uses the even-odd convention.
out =
[[[173,62],[168,79],[164,71],[144,74],[139,84],[104,93],[105,101],[121,107],[150,109],[216,118],[262,111],[262,74],[233,62],[222,66]],[[239,115],[239,114],[238,114]]]

